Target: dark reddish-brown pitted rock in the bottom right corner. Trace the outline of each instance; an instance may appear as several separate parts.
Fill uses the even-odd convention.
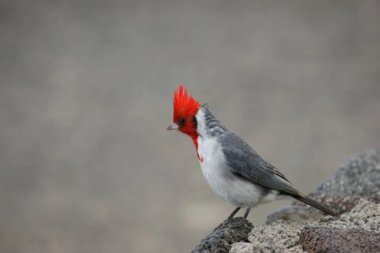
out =
[[[380,235],[358,228],[305,227],[298,245],[306,252],[380,252]]]

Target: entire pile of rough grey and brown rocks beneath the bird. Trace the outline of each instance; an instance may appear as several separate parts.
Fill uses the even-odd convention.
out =
[[[193,253],[380,252],[380,149],[349,158],[308,196],[341,214],[341,219],[294,202],[270,214],[266,225],[252,228],[247,223],[233,229],[220,224]],[[354,247],[357,240],[360,244]]]

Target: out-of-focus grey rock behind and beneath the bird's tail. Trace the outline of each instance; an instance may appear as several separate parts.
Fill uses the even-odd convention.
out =
[[[351,210],[361,199],[380,202],[380,149],[365,150],[349,158],[337,172],[308,194],[314,200],[330,207],[337,214]],[[305,208],[299,208],[304,206]],[[320,213],[318,215],[317,213]],[[294,202],[271,213],[265,224],[278,219],[289,221],[317,220],[320,211],[302,202]]]

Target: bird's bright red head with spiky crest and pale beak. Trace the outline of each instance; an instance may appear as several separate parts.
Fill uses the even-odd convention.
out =
[[[197,114],[200,104],[191,96],[187,96],[186,88],[183,85],[174,91],[173,96],[173,121],[167,126],[167,130],[179,130],[190,137],[198,136],[196,132]]]

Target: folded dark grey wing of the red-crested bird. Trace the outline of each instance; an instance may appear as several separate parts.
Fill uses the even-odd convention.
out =
[[[301,195],[286,177],[266,162],[243,139],[231,133],[222,138],[228,169],[235,175],[272,189]]]

